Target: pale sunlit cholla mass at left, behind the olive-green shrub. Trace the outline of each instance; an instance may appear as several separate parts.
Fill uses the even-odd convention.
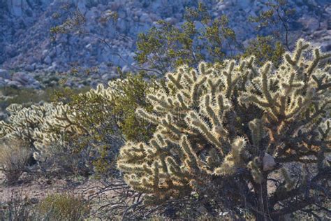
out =
[[[80,101],[99,102],[102,99],[111,103],[114,96],[120,96],[119,87],[122,83],[123,80],[116,80],[108,83],[108,87],[98,85],[96,90],[92,89],[85,94],[80,94],[79,96],[82,97]],[[87,103],[82,105],[88,106]],[[104,102],[103,105],[105,105]],[[100,115],[110,115],[110,108],[96,111],[99,110],[101,110],[101,113],[98,113]],[[98,124],[93,125],[93,128],[84,124],[82,111],[78,109],[77,104],[45,103],[29,107],[12,104],[7,108],[7,112],[10,117],[0,121],[0,139],[20,138],[27,141],[30,148],[35,151],[34,157],[39,159],[47,155],[47,148],[51,143],[67,145],[68,141],[73,140],[73,136],[76,138],[89,136],[93,133],[91,129],[100,128]],[[91,113],[84,113],[84,115],[89,114]]]

